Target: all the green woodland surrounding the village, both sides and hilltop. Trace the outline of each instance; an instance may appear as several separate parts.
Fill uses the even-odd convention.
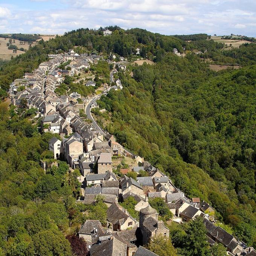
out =
[[[141,55],[155,65],[130,66],[129,71],[119,72],[124,88],[101,97],[99,105],[108,112],[95,111],[99,121],[104,125],[108,119],[106,129],[118,142],[169,174],[188,197],[211,203],[220,222],[256,247],[256,45],[223,50],[223,44],[196,35],[196,40],[186,42],[142,29],[109,29],[113,34],[106,37],[102,30],[78,29],[42,40],[3,63],[1,99],[15,78],[37,68],[49,53],[81,46],[81,52],[114,52],[129,58],[139,47]],[[190,53],[180,58],[171,53],[173,48]],[[192,50],[207,52],[195,55]],[[209,69],[207,59],[244,67],[217,73]],[[107,64],[99,62],[92,69],[101,71],[99,75],[107,81]],[[90,88],[72,79],[57,92],[68,87],[83,95],[90,93]],[[0,138],[0,255],[72,255],[69,241],[73,239],[65,236],[75,234],[86,218],[104,224],[106,209],[100,199],[95,206],[75,204],[78,172],[69,172],[66,163],[59,162],[58,168],[53,166],[44,174],[40,159],[52,161],[47,148],[53,135],[38,133],[37,123],[26,116],[26,112],[18,116],[5,102],[0,104],[0,131],[5,134]],[[133,203],[127,202],[127,207]],[[88,216],[82,214],[84,210]],[[172,244],[180,255],[198,255],[191,235],[198,225],[202,226],[200,220],[172,227]],[[205,230],[198,238],[205,238]],[[213,249],[219,248],[210,251],[204,239],[199,240],[201,255],[218,255]],[[172,251],[168,255],[176,254],[172,245],[163,244]],[[153,243],[148,246],[152,251],[157,248]]]

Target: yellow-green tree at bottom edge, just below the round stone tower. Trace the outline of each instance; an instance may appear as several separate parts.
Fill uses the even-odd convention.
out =
[[[147,245],[148,250],[159,256],[176,256],[177,251],[173,247],[171,240],[165,236],[158,235],[151,239]],[[198,254],[199,255],[199,254]]]

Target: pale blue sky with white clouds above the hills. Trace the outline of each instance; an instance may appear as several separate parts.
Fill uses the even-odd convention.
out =
[[[0,0],[0,33],[139,27],[165,35],[256,37],[255,0]]]

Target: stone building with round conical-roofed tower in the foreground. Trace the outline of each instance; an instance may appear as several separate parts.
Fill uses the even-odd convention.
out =
[[[163,221],[158,221],[157,210],[150,205],[140,210],[140,230],[142,232],[142,244],[148,244],[150,239],[154,236],[162,234],[169,237],[169,229],[165,227]]]

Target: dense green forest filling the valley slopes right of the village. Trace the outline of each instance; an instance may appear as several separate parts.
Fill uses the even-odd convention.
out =
[[[107,130],[255,246],[256,66],[216,76],[195,55],[166,55],[119,77],[125,88],[99,101]]]

